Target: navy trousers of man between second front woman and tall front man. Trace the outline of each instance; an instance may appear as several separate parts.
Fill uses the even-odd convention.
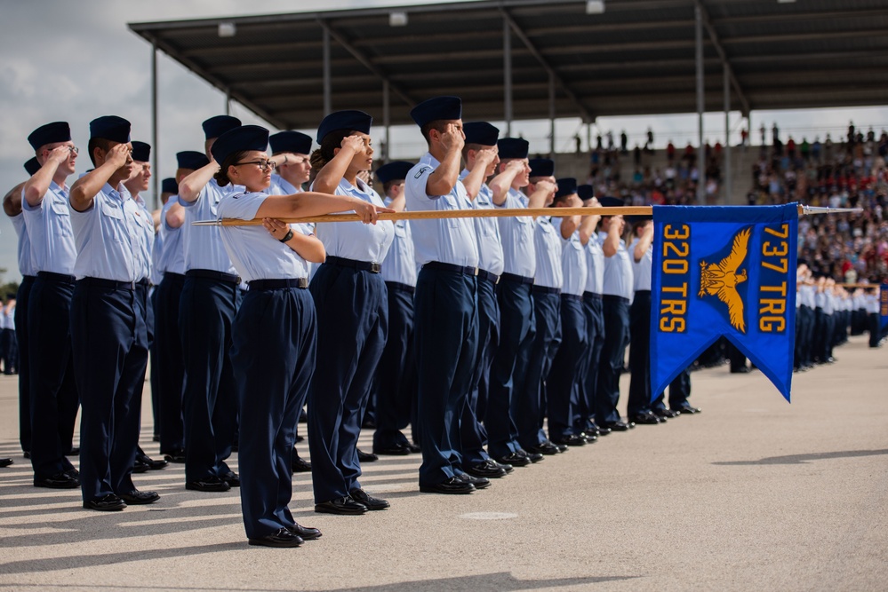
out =
[[[373,447],[406,444],[401,430],[410,423],[416,405],[416,356],[413,351],[414,288],[394,282],[388,289],[388,337],[373,382],[376,391],[376,431]]]

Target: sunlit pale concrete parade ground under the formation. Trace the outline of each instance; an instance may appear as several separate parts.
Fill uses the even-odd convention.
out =
[[[0,589],[886,590],[888,349],[854,337],[836,357],[795,375],[791,405],[759,372],[693,373],[701,414],[471,495],[419,493],[419,455],[383,457],[362,483],[391,509],[329,516],[298,474],[293,514],[324,533],[299,549],[248,546],[237,490],[187,491],[182,465],[136,475],[161,500],[122,512],[34,488],[16,378],[0,375],[0,458],[15,461],[0,469]],[[141,445],[157,457],[148,384],[143,409]]]

